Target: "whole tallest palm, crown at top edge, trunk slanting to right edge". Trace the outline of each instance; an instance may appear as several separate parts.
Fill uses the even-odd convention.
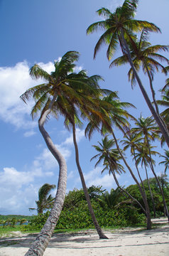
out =
[[[169,134],[165,125],[161,121],[158,113],[154,109],[151,100],[148,97],[148,94],[143,87],[141,79],[138,77],[138,73],[136,72],[136,68],[133,65],[133,61],[131,58],[131,53],[129,50],[128,43],[130,43],[134,47],[133,38],[136,36],[133,35],[133,32],[141,31],[143,28],[148,29],[148,31],[159,32],[160,29],[154,25],[153,23],[149,23],[148,21],[138,21],[133,17],[136,13],[136,7],[138,4],[138,0],[125,0],[122,6],[116,8],[114,13],[111,13],[109,9],[102,8],[97,11],[99,16],[104,16],[104,21],[98,21],[93,23],[87,28],[87,33],[93,33],[97,31],[99,28],[104,29],[104,33],[99,38],[95,48],[94,48],[94,58],[99,50],[99,48],[107,43],[107,58],[110,60],[114,53],[117,50],[118,45],[120,45],[122,53],[128,56],[129,64],[133,70],[133,75],[136,77],[138,82],[138,86],[141,89],[144,99],[153,114],[154,119],[160,128],[160,131],[163,133],[165,137],[165,141],[169,146]]]

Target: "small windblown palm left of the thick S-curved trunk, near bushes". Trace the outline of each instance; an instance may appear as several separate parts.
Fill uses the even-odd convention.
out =
[[[48,183],[43,184],[38,191],[38,201],[36,201],[37,208],[29,208],[29,210],[37,210],[38,214],[41,214],[43,213],[43,210],[52,208],[55,198],[53,198],[51,194],[49,195],[49,193],[55,187],[55,185],[50,185]]]

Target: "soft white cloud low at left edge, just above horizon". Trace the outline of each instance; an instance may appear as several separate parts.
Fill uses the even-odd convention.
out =
[[[4,168],[0,171],[0,209],[2,214],[28,214],[37,197],[38,186],[34,180],[44,174],[40,169],[17,171],[15,168]]]

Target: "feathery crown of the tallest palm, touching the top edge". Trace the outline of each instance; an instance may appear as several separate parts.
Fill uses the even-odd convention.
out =
[[[138,0],[125,0],[124,4],[117,7],[114,13],[107,8],[101,8],[97,11],[97,14],[99,16],[103,16],[105,19],[104,21],[98,21],[90,25],[87,28],[87,33],[93,33],[98,29],[102,29],[105,32],[99,38],[99,41],[94,48],[94,58],[104,43],[108,45],[107,58],[109,60],[116,52],[119,44],[121,46],[121,50],[125,52],[124,43],[121,40],[121,30],[123,30],[126,40],[131,43],[134,37],[133,33],[141,31],[142,28],[160,32],[160,28],[155,24],[148,21],[138,21],[134,19],[137,5]]]

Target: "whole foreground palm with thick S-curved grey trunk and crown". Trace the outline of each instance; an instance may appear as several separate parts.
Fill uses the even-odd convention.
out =
[[[40,68],[39,65],[33,65],[30,70],[30,75],[32,78],[42,78],[45,80],[43,84],[37,85],[28,89],[21,99],[27,102],[31,97],[36,101],[31,112],[34,118],[38,112],[40,112],[40,118],[38,119],[38,127],[40,129],[45,143],[48,149],[53,154],[55,159],[58,161],[60,172],[58,178],[58,189],[55,196],[55,202],[53,208],[50,212],[48,220],[46,221],[43,229],[40,231],[33,243],[31,248],[28,250],[26,255],[43,255],[45,248],[51,238],[55,225],[58,221],[60,212],[65,199],[66,193],[66,182],[67,182],[67,166],[65,159],[60,154],[60,151],[56,149],[55,144],[53,144],[52,139],[48,132],[45,131],[44,124],[50,117],[50,114],[54,114],[58,117],[62,114],[62,105],[59,105],[60,100],[62,102],[71,102],[75,98],[76,92],[74,90],[74,85],[77,86],[77,81],[81,82],[78,75],[73,73],[73,68],[75,68],[75,61],[79,58],[79,53],[76,51],[69,51],[62,56],[60,61],[56,61],[55,71],[52,73],[47,73],[45,70]],[[57,111],[53,110],[54,106],[57,104]],[[56,109],[56,106],[55,106]]]

